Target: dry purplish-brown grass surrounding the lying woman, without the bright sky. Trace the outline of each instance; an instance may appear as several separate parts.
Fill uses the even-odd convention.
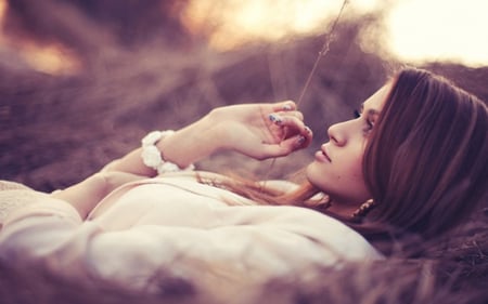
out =
[[[87,41],[87,37],[94,37],[97,41],[82,44],[90,48],[80,48],[88,52],[84,56],[87,68],[73,76],[40,74],[0,55],[3,56],[0,61],[2,180],[51,191],[80,181],[130,150],[149,130],[177,129],[220,105],[296,100],[322,45],[321,37],[312,37],[224,54],[200,43],[175,50],[165,42],[153,41],[128,49],[115,42],[116,39],[104,40],[93,32],[92,26],[82,26],[88,21],[74,14],[81,26],[76,24],[68,29],[76,29],[70,34],[79,37],[78,43]],[[355,42],[361,25],[361,22],[351,22],[339,26],[338,39],[321,62],[300,105],[314,130],[314,147],[324,140],[324,127],[348,118],[354,107],[383,83],[388,67],[394,65],[361,51]],[[103,55],[94,55],[100,53]],[[487,69],[440,64],[429,67],[488,100]],[[271,177],[295,171],[308,161],[310,154],[304,151],[280,160]],[[204,161],[201,168],[226,171],[235,163],[258,175],[269,169],[269,162],[229,155]],[[319,277],[313,281],[278,278],[262,290],[258,302],[486,303],[486,208],[485,200],[465,227],[447,241],[432,246],[424,259],[390,259],[376,264],[349,265],[341,270],[319,269]],[[48,276],[41,281],[51,283],[52,288],[48,288],[50,291],[38,302],[29,295],[36,294],[39,281],[36,278],[39,277],[22,266],[2,265],[1,274],[2,303],[53,303],[54,300],[56,303],[84,303],[80,302],[84,298],[69,296],[84,294],[86,290],[104,294],[99,303],[175,301],[171,296],[131,298],[121,291],[107,293],[93,287],[74,288],[70,282],[61,283]],[[60,283],[61,289],[56,288]],[[191,286],[191,282],[181,283]],[[169,286],[169,290],[180,288],[174,281]],[[69,290],[73,292],[64,293]],[[17,295],[21,298],[15,298]],[[178,303],[183,300],[205,303],[208,299],[177,298]]]

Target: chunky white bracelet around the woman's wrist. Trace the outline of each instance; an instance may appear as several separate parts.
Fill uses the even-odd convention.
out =
[[[172,163],[170,161],[166,161],[164,157],[162,156],[162,153],[156,147],[156,144],[163,140],[166,136],[171,135],[175,133],[172,130],[167,131],[153,131],[150,132],[147,135],[142,138],[142,162],[147,166],[149,168],[152,168],[157,171],[157,174],[163,174],[165,172],[177,172],[177,171],[190,171],[194,170],[195,167],[193,163],[188,166],[184,169],[181,169],[176,163]]]

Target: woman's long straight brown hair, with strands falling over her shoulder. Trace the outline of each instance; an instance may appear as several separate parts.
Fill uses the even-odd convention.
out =
[[[393,78],[365,147],[363,174],[375,208],[363,221],[329,212],[328,197],[308,182],[288,193],[240,177],[220,185],[257,203],[319,210],[370,240],[426,240],[459,224],[486,194],[487,128],[480,100],[429,71],[406,68]]]

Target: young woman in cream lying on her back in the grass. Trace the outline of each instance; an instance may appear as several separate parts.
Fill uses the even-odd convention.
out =
[[[312,140],[290,101],[217,108],[150,133],[80,184],[30,191],[4,212],[0,256],[134,289],[157,290],[164,272],[222,299],[252,295],[272,277],[384,259],[376,244],[455,226],[486,194],[487,127],[475,96],[404,69],[328,130],[297,186],[193,171],[217,150],[266,159]]]

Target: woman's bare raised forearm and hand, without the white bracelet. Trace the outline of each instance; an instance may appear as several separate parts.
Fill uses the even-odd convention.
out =
[[[166,161],[185,168],[226,149],[256,159],[286,156],[307,147],[311,137],[311,131],[304,124],[295,103],[286,101],[216,108],[198,121],[164,137],[156,147]],[[141,148],[111,162],[104,171],[144,176],[156,174],[143,164]]]

